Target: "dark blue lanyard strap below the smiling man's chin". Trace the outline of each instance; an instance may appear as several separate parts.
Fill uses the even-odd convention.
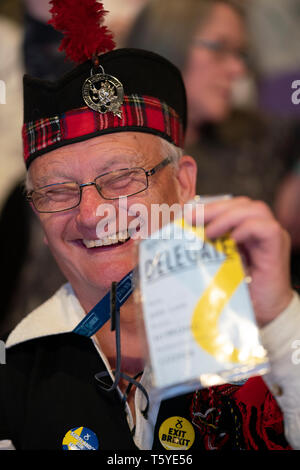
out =
[[[117,306],[121,307],[133,291],[133,271],[126,274],[117,285]],[[93,336],[110,319],[110,292],[81,320],[73,333],[81,336]]]

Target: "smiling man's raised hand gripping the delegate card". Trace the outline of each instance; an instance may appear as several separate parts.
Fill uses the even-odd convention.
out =
[[[194,211],[192,212],[194,217]],[[236,241],[251,276],[249,291],[256,319],[264,326],[289,304],[290,239],[270,208],[246,197],[205,204],[206,236],[216,239],[227,233]]]

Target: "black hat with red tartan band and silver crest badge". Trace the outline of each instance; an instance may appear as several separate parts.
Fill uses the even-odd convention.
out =
[[[27,169],[51,150],[113,132],[151,133],[183,147],[183,80],[172,63],[155,53],[115,49],[86,60],[58,81],[25,75],[23,84]]]

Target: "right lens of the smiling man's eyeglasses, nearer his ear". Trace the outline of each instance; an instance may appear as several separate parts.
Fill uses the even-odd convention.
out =
[[[113,199],[144,191],[147,176],[142,168],[116,170],[96,178],[95,183],[104,198]]]

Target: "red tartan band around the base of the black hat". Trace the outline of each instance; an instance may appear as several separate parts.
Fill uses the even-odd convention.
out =
[[[22,135],[27,168],[36,157],[55,148],[116,131],[150,132],[183,147],[182,123],[166,103],[151,96],[130,95],[124,97],[121,109],[122,118],[82,107],[25,123]]]

